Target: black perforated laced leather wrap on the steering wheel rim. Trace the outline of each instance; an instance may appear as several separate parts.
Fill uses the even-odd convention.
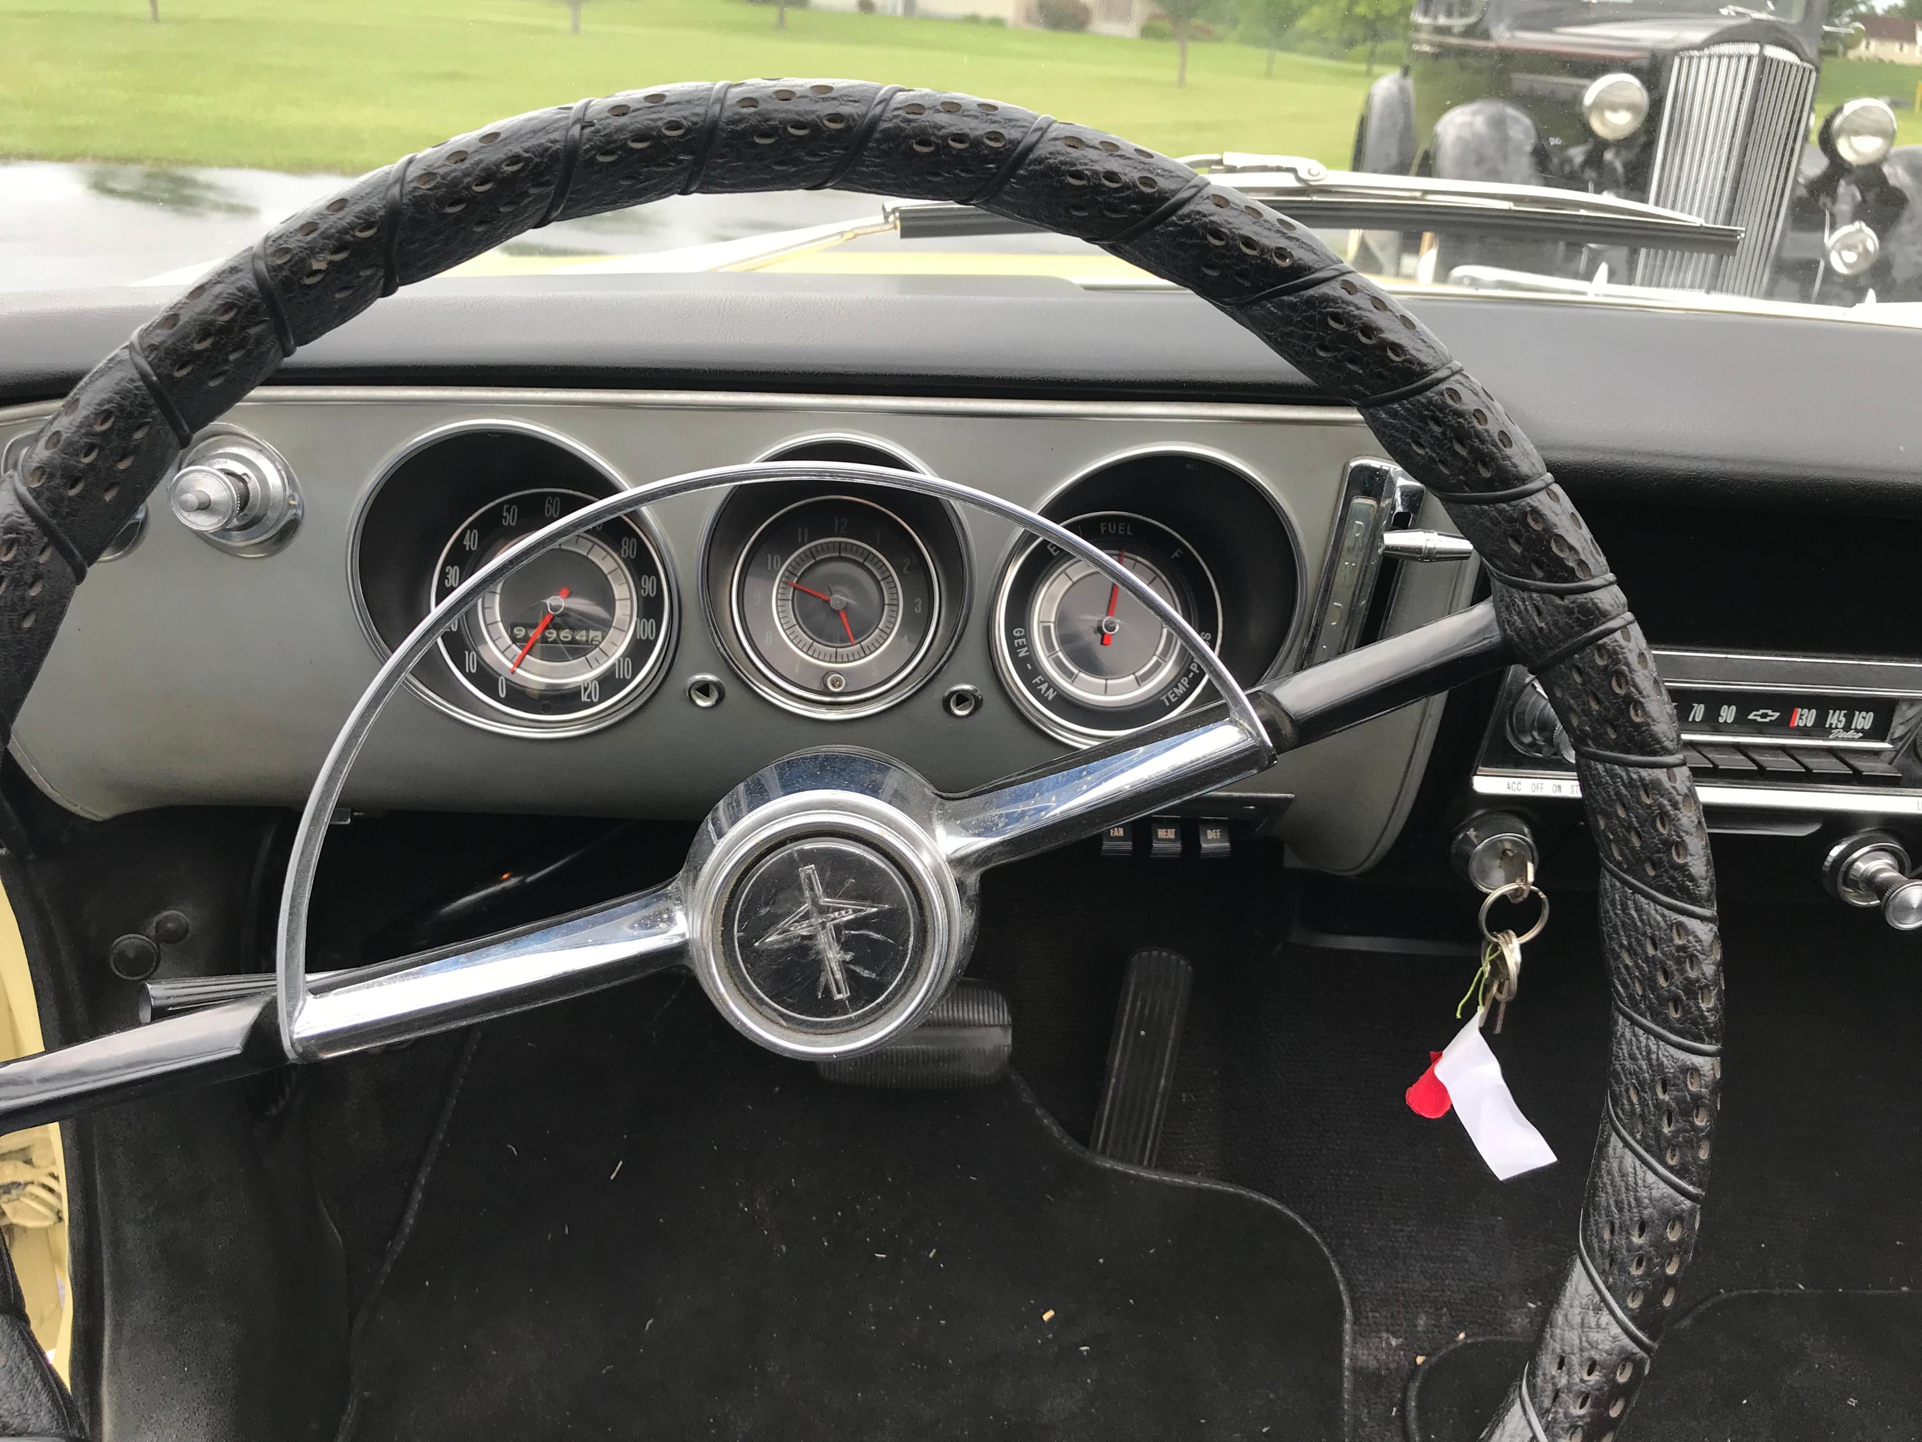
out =
[[[0,723],[88,563],[296,346],[530,227],[790,188],[967,202],[1188,286],[1361,408],[1474,542],[1503,638],[1574,740],[1614,1004],[1576,1254],[1484,1436],[1609,1442],[1695,1244],[1720,1090],[1714,881],[1674,709],[1601,548],[1501,406],[1307,229],[1213,177],[1017,106],[855,81],[630,90],[365,175],[140,327],[33,438],[0,488]],[[1288,738],[1286,711],[1263,719]]]

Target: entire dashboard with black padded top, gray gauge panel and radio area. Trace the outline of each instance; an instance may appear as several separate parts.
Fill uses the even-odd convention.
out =
[[[1761,694],[1745,723],[1822,708],[1822,744],[1703,723],[1689,761],[1707,784],[1749,815],[1874,821],[1922,796],[1912,329],[1417,308],[1578,498],[1672,683]],[[150,311],[129,292],[0,296],[0,446]],[[296,806],[448,565],[465,573],[550,506],[665,475],[855,460],[990,490],[1128,554],[1247,681],[1326,654],[1328,617],[1368,590],[1349,590],[1342,548],[1355,508],[1399,504],[1361,485],[1376,454],[1361,417],[1201,302],[1040,281],[434,281],[300,352],[227,423],[296,477],[298,527],[223,552],[156,492],[136,544],[96,567],[12,746],[81,815]],[[1397,523],[1449,531],[1432,500],[1413,506]],[[352,808],[692,819],[830,744],[967,790],[1205,704],[1124,598],[1107,617],[1099,583],[1088,594],[1049,548],[905,492],[682,496],[554,565],[440,640],[377,725]],[[1384,563],[1370,584],[1332,644],[1465,606],[1476,567]],[[1851,658],[1882,669],[1832,665]],[[1839,696],[1878,698],[1864,744],[1830,734]],[[1526,700],[1526,677],[1491,690],[1447,779],[1484,806],[1572,808]],[[1857,729],[1876,708],[1849,709]],[[1380,717],[1197,806],[1307,865],[1367,869],[1413,809],[1440,713]]]

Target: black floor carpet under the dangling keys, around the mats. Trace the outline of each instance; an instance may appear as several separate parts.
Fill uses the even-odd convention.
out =
[[[1716,838],[1730,877],[1737,842]],[[1609,998],[1593,898],[1549,884],[1553,925],[1493,1046],[1561,1161],[1497,1182],[1453,1119],[1403,1104],[1459,1025],[1472,959],[1288,942],[1280,867],[1253,848],[1213,865],[1072,850],[988,877],[971,971],[1007,988],[1015,1061],[1078,1136],[1128,954],[1195,963],[1159,1165],[1272,1196],[1328,1242],[1355,1307],[1357,1438],[1401,1434],[1417,1357],[1530,1334],[1568,1259]],[[1728,1081],[1684,1302],[1922,1288],[1916,938],[1818,892],[1728,892],[1722,915]]]

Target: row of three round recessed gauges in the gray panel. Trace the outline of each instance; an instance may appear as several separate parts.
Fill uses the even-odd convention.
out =
[[[863,436],[815,436],[761,460],[923,469]],[[419,438],[357,517],[352,573],[369,638],[390,652],[475,565],[623,485],[536,427]],[[1299,548],[1272,496],[1232,460],[1126,454],[1069,481],[1044,510],[1146,581],[1245,683],[1286,654]],[[896,706],[942,671],[969,623],[973,571],[969,529],[946,502],[798,477],[719,500],[690,594],[753,692],[832,721]],[[684,604],[648,511],[619,517],[482,592],[413,686],[498,733],[594,731],[661,684]],[[980,621],[1009,698],[1076,746],[1178,715],[1207,692],[1201,665],[1146,604],[1042,538],[1021,536],[999,558]]]

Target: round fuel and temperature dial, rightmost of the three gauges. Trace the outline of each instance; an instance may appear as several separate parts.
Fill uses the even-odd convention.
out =
[[[1067,529],[1147,583],[1219,650],[1220,594],[1182,536],[1128,511],[1080,515]],[[1201,663],[1146,602],[1046,540],[1030,544],[1001,583],[996,661],[1023,709],[1078,742],[1186,709],[1203,679]]]

